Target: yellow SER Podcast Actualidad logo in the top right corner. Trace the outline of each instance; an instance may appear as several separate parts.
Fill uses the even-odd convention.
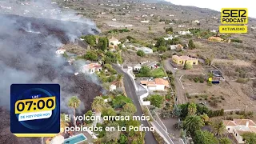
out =
[[[222,8],[221,15],[221,21],[224,25],[219,26],[220,33],[247,33],[247,8]]]

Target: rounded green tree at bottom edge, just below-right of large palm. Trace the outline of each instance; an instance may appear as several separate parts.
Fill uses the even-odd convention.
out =
[[[196,130],[193,142],[194,144],[218,144],[218,139],[206,130]]]

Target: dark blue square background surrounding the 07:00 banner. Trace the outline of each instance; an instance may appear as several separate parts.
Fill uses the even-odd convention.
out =
[[[50,118],[19,121],[15,114],[15,102],[24,99],[48,98],[55,96],[55,108]],[[30,110],[36,110],[31,105]],[[42,105],[41,105],[42,106]],[[33,111],[31,113],[34,114]],[[10,131],[13,134],[58,134],[60,132],[60,86],[58,84],[13,84],[10,86]]]

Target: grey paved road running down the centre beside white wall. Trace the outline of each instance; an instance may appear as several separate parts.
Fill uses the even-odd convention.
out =
[[[136,94],[136,90],[134,88],[134,84],[132,79],[128,74],[126,74],[119,66],[113,65],[113,68],[118,71],[118,73],[123,74],[123,83],[125,85],[126,94],[129,98],[131,98],[134,102],[134,106],[137,108],[137,112],[135,113],[136,116],[142,116],[142,107],[139,104],[138,96]],[[141,121],[143,126],[149,126],[146,121]],[[145,135],[145,143],[146,144],[158,144],[155,140],[154,135],[150,131],[146,131]]]

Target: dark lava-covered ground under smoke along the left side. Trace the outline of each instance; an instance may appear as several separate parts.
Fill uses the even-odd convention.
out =
[[[51,8],[43,3],[38,6]],[[82,101],[77,111],[84,114],[93,98],[102,93],[102,87],[94,76],[74,76],[74,68],[66,64],[66,59],[57,57],[55,51],[82,34],[95,34],[98,30],[87,19],[70,22],[16,13],[6,14],[0,9],[0,144],[37,144],[41,143],[40,138],[16,138],[10,133],[10,85],[59,83],[62,112],[70,113],[67,102],[76,95]]]

